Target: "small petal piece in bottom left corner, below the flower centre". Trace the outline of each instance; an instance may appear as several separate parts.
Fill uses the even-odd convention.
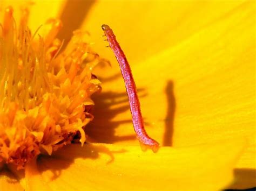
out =
[[[23,190],[15,176],[8,170],[0,171],[0,190]]]

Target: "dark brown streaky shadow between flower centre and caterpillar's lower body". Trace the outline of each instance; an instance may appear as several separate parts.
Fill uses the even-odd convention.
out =
[[[138,89],[140,97],[146,96],[144,89]],[[114,91],[107,91],[92,97],[95,102],[93,108],[94,119],[89,123],[85,132],[89,136],[89,140],[98,143],[115,143],[125,140],[136,139],[135,133],[126,136],[116,136],[116,128],[119,125],[129,123],[132,126],[131,117],[122,119],[120,121],[114,121],[113,118],[118,114],[130,110],[129,101],[126,92],[117,93]]]

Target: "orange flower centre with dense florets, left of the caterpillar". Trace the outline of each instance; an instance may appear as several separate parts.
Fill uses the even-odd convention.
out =
[[[39,154],[85,143],[84,128],[93,119],[86,107],[100,90],[92,69],[100,58],[88,33],[73,32],[63,48],[60,20],[49,19],[32,33],[29,10],[17,23],[13,12],[5,9],[0,27],[0,164],[21,169]]]

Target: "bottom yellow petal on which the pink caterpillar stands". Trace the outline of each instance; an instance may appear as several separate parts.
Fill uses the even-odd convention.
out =
[[[244,142],[235,141],[161,147],[158,153],[142,152],[137,146],[69,145],[53,157],[38,160],[42,176],[37,181],[52,190],[217,190],[232,181],[242,145]]]

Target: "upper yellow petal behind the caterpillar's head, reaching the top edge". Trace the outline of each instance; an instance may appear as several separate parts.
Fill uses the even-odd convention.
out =
[[[100,26],[108,24],[116,33],[131,65],[176,46],[197,31],[223,19],[244,1],[96,1],[85,17],[83,29],[90,31],[93,46],[113,63],[116,59]],[[117,69],[117,70],[116,70]]]

